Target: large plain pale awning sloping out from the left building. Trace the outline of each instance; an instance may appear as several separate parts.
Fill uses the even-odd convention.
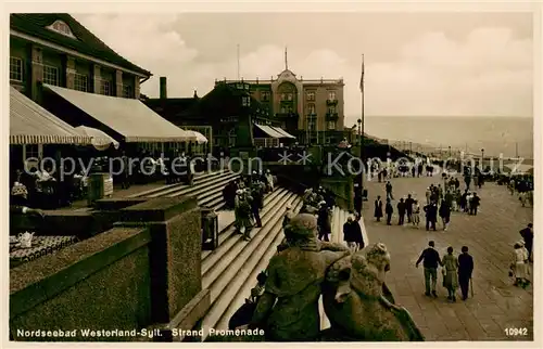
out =
[[[194,142],[197,137],[167,121],[139,100],[43,85],[79,111],[121,134],[127,143]]]

